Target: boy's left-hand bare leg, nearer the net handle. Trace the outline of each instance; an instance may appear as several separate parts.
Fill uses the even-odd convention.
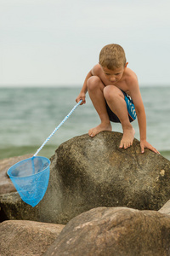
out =
[[[111,122],[105,106],[104,88],[105,85],[97,76],[93,76],[88,79],[88,95],[94,104],[94,108],[99,114],[101,120],[100,125],[90,129],[88,134],[90,137],[94,137],[100,131],[111,131]]]

